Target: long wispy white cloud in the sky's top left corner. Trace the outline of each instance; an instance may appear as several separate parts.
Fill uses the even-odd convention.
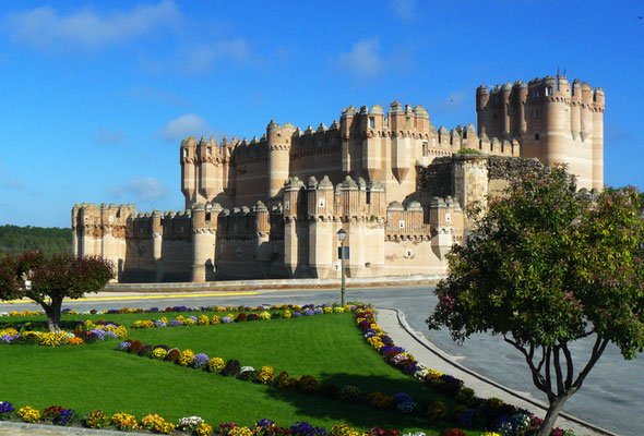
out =
[[[130,40],[180,20],[177,5],[164,0],[103,14],[90,9],[62,14],[47,5],[9,14],[1,26],[13,40],[38,48],[95,48]]]

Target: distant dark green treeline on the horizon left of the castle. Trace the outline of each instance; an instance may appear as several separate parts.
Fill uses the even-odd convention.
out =
[[[0,255],[41,250],[46,255],[71,253],[72,229],[0,226]]]

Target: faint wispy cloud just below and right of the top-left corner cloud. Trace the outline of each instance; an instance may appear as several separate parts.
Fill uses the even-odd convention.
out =
[[[210,72],[218,62],[243,62],[251,59],[251,50],[246,39],[216,40],[211,44],[190,44],[181,46],[174,56],[160,59],[141,55],[141,65],[154,73],[178,71],[189,74]]]

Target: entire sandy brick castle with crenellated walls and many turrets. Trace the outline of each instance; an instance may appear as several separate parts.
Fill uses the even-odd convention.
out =
[[[426,109],[394,101],[386,116],[345,108],[329,128],[187,137],[186,209],[76,204],[73,251],[112,259],[119,281],[333,278],[344,229],[348,277],[445,274],[465,206],[506,186],[490,156],[563,162],[580,187],[603,189],[604,108],[601,88],[558,74],[479,87],[476,129],[437,130]]]

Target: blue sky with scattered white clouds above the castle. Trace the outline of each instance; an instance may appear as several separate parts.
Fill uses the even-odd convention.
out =
[[[178,210],[184,136],[330,125],[354,105],[476,124],[475,92],[565,69],[606,93],[605,183],[644,189],[641,1],[0,3],[0,225],[75,203]]]

